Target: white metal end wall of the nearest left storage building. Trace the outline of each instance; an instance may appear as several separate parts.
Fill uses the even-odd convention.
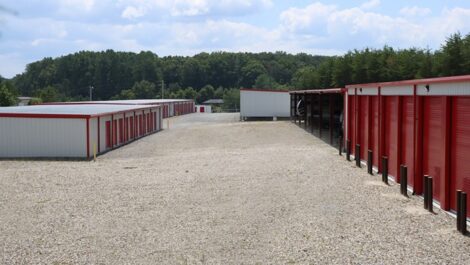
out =
[[[0,157],[86,157],[86,119],[0,118]]]

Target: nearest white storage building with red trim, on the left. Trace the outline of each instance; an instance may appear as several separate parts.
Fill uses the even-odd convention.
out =
[[[90,159],[162,129],[159,105],[0,108],[0,158]]]

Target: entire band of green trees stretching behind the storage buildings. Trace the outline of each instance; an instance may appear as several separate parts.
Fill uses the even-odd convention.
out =
[[[82,51],[44,58],[11,80],[0,79],[0,97],[21,94],[42,101],[87,100],[93,86],[97,100],[161,98],[163,91],[165,98],[197,103],[223,98],[237,108],[233,102],[241,87],[321,89],[462,74],[470,74],[470,34],[460,33],[449,36],[436,51],[385,46],[331,57],[285,52],[159,57],[148,51]]]

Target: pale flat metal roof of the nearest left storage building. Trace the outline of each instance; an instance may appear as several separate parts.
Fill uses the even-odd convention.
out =
[[[85,115],[96,116],[105,113],[138,110],[142,108],[155,108],[153,105],[104,105],[104,104],[81,104],[81,105],[33,105],[18,107],[2,107],[1,114],[42,114],[42,115]]]

